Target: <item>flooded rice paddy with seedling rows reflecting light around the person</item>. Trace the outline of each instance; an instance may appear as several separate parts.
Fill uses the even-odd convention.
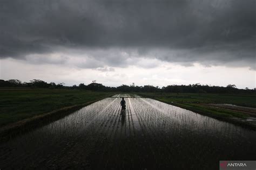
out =
[[[256,132],[149,98],[105,98],[0,144],[0,168],[218,169],[253,160]]]

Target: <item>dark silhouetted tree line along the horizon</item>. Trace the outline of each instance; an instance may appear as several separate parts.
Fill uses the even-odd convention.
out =
[[[122,91],[122,92],[167,92],[167,93],[256,93],[254,89],[238,89],[235,84],[228,84],[226,87],[221,86],[208,86],[200,83],[189,84],[189,85],[169,85],[166,87],[159,88],[151,85],[135,86],[132,83],[130,86],[122,84],[118,87],[108,87],[101,83],[92,83],[85,85],[80,83],[78,86],[73,85],[72,87],[64,86],[64,83],[47,83],[43,80],[33,79],[30,82],[21,82],[17,79],[12,80],[0,80],[0,87],[24,87],[24,88],[65,88],[65,89],[80,89],[80,90],[93,90],[93,91]]]

